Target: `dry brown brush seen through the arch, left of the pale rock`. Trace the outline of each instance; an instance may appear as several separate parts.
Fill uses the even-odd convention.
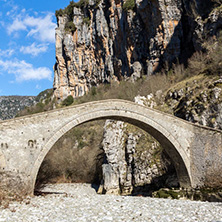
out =
[[[103,125],[104,121],[90,122],[63,135],[45,157],[36,187],[45,183],[99,182]]]

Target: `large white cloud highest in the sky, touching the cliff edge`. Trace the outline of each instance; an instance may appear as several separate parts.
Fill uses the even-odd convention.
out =
[[[56,24],[52,21],[53,14],[48,13],[45,16],[33,17],[29,15],[18,15],[7,31],[12,34],[16,31],[27,31],[27,36],[34,37],[42,42],[55,42]]]

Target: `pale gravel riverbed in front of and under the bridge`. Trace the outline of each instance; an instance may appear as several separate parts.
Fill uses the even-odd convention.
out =
[[[0,222],[222,222],[222,203],[98,195],[89,184],[55,184],[45,196],[0,208]]]

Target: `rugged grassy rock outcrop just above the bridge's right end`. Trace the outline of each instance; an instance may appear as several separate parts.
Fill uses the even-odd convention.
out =
[[[165,102],[175,116],[193,123],[222,129],[222,79],[202,75],[186,84],[175,86],[166,95]]]

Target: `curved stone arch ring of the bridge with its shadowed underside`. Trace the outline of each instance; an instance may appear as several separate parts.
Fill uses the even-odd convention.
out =
[[[55,131],[56,133],[46,142],[46,144],[42,148],[42,152],[38,156],[30,172],[30,179],[32,183],[33,192],[40,166],[45,156],[53,147],[53,145],[57,142],[57,140],[72,128],[83,123],[99,119],[121,120],[145,130],[162,145],[162,147],[165,149],[165,151],[171,158],[176,169],[180,186],[191,186],[190,161],[187,153],[185,152],[179,141],[172,134],[170,134],[167,129],[165,129],[153,119],[141,113],[135,113],[130,111],[126,112],[126,110],[118,110],[116,108],[113,108],[107,110],[97,110],[91,115],[88,112],[82,113],[78,117],[73,118],[73,120],[69,123],[66,123],[61,126],[60,129]]]

